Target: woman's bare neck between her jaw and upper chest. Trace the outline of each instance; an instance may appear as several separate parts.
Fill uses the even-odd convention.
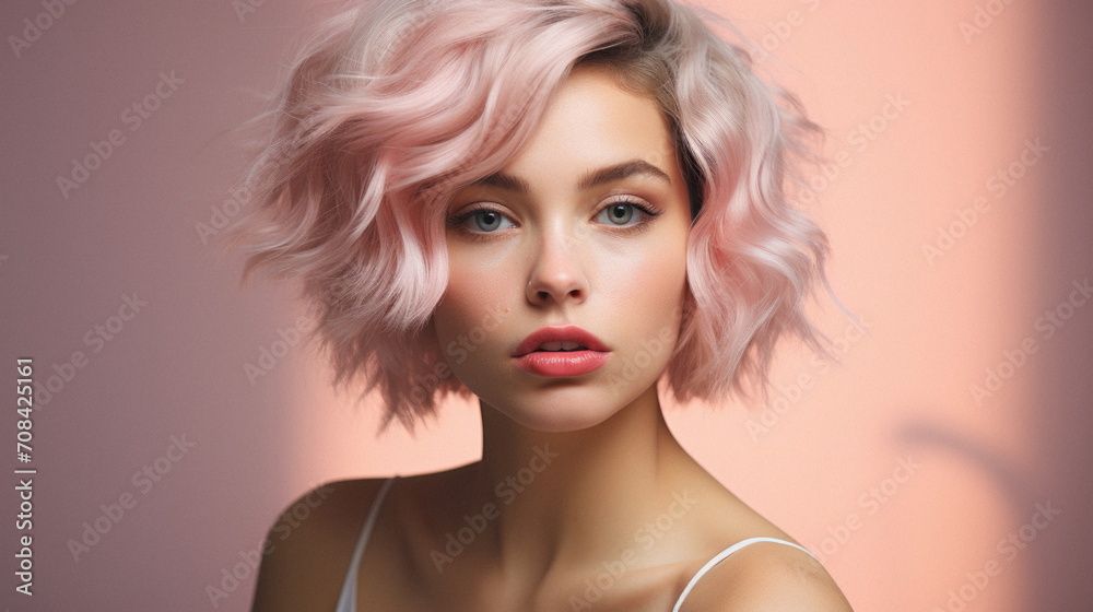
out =
[[[500,509],[489,539],[503,565],[524,560],[521,573],[618,554],[612,548],[670,498],[675,479],[668,474],[690,462],[665,423],[656,386],[585,429],[538,432],[486,404],[482,429],[474,486]]]

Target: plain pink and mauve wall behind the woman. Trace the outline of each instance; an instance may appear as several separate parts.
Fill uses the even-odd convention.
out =
[[[34,412],[33,598],[13,590],[17,499],[0,495],[0,607],[247,610],[245,565],[215,605],[207,587],[225,588],[306,489],[475,457],[472,409],[448,408],[416,439],[377,438],[376,412],[328,391],[299,344],[255,384],[245,373],[279,332],[292,336],[298,308],[286,287],[239,290],[238,258],[196,226],[214,210],[236,219],[224,202],[242,157],[226,130],[259,108],[254,94],[273,85],[294,36],[328,11],[310,4],[238,15],[228,0],[79,2],[55,20],[38,16],[40,1],[0,8],[5,37],[25,19],[49,23],[19,57],[7,38],[0,59],[0,388],[12,405],[20,356],[43,384],[70,375]],[[710,5],[739,20],[762,69],[832,134],[842,166],[810,210],[831,233],[836,294],[869,327],[858,334],[824,305],[839,363],[787,346],[775,405],[669,408],[673,429],[818,551],[856,610],[1088,610],[1093,303],[1067,299],[1093,275],[1093,9]],[[162,73],[174,90],[161,85],[169,96],[149,98],[157,108],[131,129],[126,109]],[[57,177],[115,129],[125,141],[62,195]],[[1021,163],[1030,141],[1042,149]],[[111,320],[133,294],[148,305]],[[1061,328],[1042,319],[1049,310],[1068,317]],[[108,325],[116,333],[95,341]],[[66,366],[75,351],[85,361]],[[988,369],[1006,378],[977,400]],[[802,376],[809,388],[795,389]],[[14,422],[0,420],[9,474],[24,467]],[[192,447],[168,454],[184,435]],[[165,473],[134,482],[145,466]],[[122,498],[131,507],[74,558],[69,541]],[[999,544],[1011,534],[1020,549]]]

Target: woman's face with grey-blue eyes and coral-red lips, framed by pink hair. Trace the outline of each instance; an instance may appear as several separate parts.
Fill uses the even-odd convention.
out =
[[[690,222],[656,102],[578,67],[530,143],[448,208],[434,325],[453,372],[534,429],[604,421],[674,350]]]

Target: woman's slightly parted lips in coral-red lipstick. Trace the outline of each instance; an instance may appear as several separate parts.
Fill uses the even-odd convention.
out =
[[[520,369],[553,378],[568,378],[600,368],[611,351],[598,338],[568,325],[532,332],[513,352]]]

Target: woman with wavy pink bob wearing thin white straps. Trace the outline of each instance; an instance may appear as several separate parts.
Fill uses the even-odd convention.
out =
[[[248,270],[303,281],[388,421],[477,396],[482,460],[322,487],[254,610],[849,610],[660,411],[761,387],[785,332],[822,351],[792,110],[668,0],[332,19],[271,114]]]

